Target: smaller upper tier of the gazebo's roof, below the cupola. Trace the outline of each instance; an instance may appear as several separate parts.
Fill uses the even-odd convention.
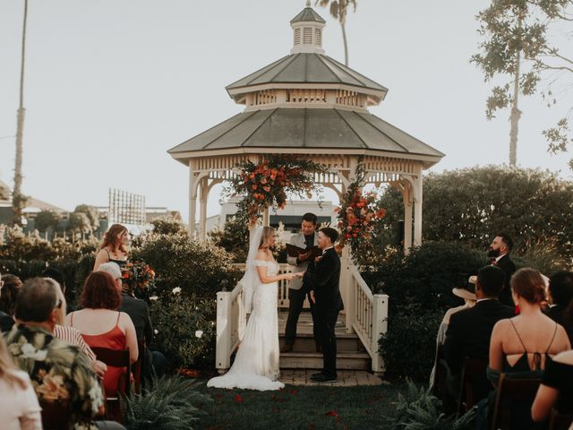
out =
[[[248,87],[265,84],[338,84],[371,90],[380,99],[384,99],[388,92],[380,83],[338,63],[334,58],[315,53],[284,56],[226,88],[233,96],[246,92]]]

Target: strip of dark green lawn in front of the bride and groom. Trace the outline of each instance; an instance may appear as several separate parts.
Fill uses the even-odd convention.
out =
[[[320,387],[286,385],[281,391],[207,389],[214,400],[203,405],[209,415],[197,428],[226,429],[348,429],[383,428],[398,392],[406,385]]]

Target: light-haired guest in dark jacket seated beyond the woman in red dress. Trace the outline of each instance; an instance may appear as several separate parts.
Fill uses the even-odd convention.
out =
[[[135,332],[137,333],[137,340],[149,346],[153,342],[153,326],[150,320],[150,308],[144,300],[135,298],[133,291],[129,290],[129,286],[122,280],[122,271],[115,262],[105,262],[101,264],[98,271],[105,271],[115,280],[115,285],[122,293],[122,304],[118,310],[128,314],[132,319]],[[158,351],[150,351],[145,348],[145,351],[140,351],[140,354],[145,354],[145,363],[148,366],[153,366],[155,374],[162,376],[165,373],[166,359]],[[151,369],[146,366],[145,373],[150,375]]]

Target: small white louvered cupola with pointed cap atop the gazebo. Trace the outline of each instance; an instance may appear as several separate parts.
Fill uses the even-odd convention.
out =
[[[311,2],[306,2],[304,10],[290,22],[293,28],[293,48],[290,53],[324,54],[322,29],[325,25],[326,21],[312,9]]]

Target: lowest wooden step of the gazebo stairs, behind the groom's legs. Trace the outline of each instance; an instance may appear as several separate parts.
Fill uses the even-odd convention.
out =
[[[317,352],[286,352],[280,355],[281,369],[321,369],[322,354]],[[338,352],[337,368],[340,370],[369,370],[371,359],[367,353]]]

